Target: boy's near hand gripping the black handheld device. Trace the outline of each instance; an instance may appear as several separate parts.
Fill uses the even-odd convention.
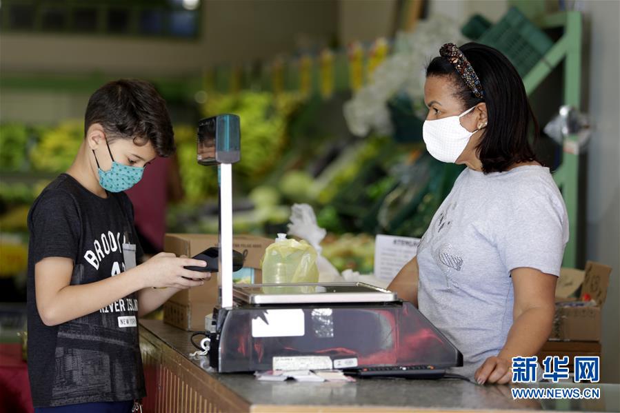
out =
[[[193,265],[205,267],[205,261],[186,257],[177,257],[170,252],[160,252],[151,259],[137,266],[139,274],[143,277],[145,287],[155,288],[185,288],[203,285],[203,280],[211,278],[208,272],[186,270],[185,266]]]

